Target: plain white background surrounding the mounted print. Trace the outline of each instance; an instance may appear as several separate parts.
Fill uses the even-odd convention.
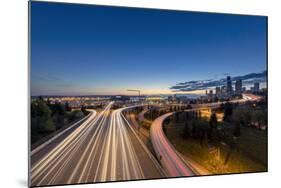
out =
[[[52,0],[49,0],[52,1]],[[55,1],[52,1],[55,2]],[[58,1],[57,1],[58,2]],[[98,188],[143,187],[255,187],[278,185],[280,176],[280,11],[276,0],[67,0],[60,2],[103,4],[129,7],[207,11],[269,16],[269,172],[199,178],[179,178],[95,184]],[[27,186],[27,109],[28,109],[28,3],[3,1],[0,6],[0,186]],[[75,185],[71,187],[92,187]]]

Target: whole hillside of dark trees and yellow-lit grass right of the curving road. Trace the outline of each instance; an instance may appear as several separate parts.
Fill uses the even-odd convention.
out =
[[[218,121],[216,112],[223,112]],[[267,170],[267,105],[225,103],[209,118],[200,111],[176,112],[164,131],[186,157],[211,174]]]

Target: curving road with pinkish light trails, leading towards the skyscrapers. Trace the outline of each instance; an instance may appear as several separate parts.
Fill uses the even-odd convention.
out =
[[[230,101],[231,103],[243,104],[247,101],[259,101],[261,98],[255,95],[243,95],[243,99]],[[204,108],[218,108],[223,102],[214,102],[206,104],[194,104],[192,109],[185,111],[200,110]],[[175,112],[166,113],[156,118],[150,127],[150,138],[162,167],[170,177],[195,176],[202,175],[199,173],[198,166],[187,163],[183,160],[177,150],[172,146],[163,131],[163,122],[166,118]]]

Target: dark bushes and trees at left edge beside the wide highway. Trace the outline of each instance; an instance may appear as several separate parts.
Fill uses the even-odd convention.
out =
[[[31,102],[31,144],[66,128],[86,116],[85,108],[72,110],[68,103],[51,104],[42,98]]]

